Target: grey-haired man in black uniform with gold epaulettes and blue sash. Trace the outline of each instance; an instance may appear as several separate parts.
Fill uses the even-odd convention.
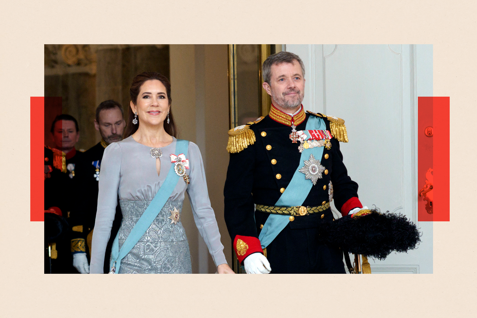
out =
[[[339,246],[320,240],[321,222],[363,208],[343,164],[344,121],[305,112],[300,57],[279,52],[263,63],[269,115],[231,129],[225,221],[247,273],[345,273]],[[254,208],[254,204],[256,208]]]

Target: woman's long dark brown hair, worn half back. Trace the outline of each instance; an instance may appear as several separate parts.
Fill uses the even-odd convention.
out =
[[[167,99],[169,100],[169,106],[170,106],[172,103],[171,83],[169,82],[166,76],[158,72],[142,72],[141,74],[136,75],[135,78],[133,78],[133,82],[131,83],[131,88],[129,89],[131,102],[133,102],[135,105],[137,104],[137,96],[139,95],[139,92],[141,91],[141,86],[143,86],[145,81],[149,81],[149,80],[158,80],[166,87]],[[139,123],[136,123],[136,124],[133,123],[133,119],[134,119],[133,110],[131,109],[131,107],[128,107],[128,109],[129,111],[128,111],[128,117],[126,122],[126,129],[124,129],[124,138],[127,138],[133,133],[135,133],[137,131],[137,128],[139,127]],[[164,130],[166,131],[166,133],[177,138],[177,128],[176,128],[176,124],[174,123],[174,116],[172,115],[172,109],[169,110],[169,123],[167,123],[167,120],[164,121]]]

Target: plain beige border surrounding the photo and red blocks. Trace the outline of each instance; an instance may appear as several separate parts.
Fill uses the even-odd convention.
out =
[[[2,316],[476,315],[475,1],[45,2],[0,12]],[[43,95],[43,44],[157,42],[434,44],[434,96],[451,101],[451,222],[434,225],[435,274],[42,274],[43,224],[29,222],[28,110]]]

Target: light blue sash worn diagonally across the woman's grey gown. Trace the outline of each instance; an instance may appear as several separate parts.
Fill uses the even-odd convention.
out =
[[[185,156],[187,156],[188,147],[189,142],[187,140],[177,139],[175,154],[184,154]],[[113,268],[114,263],[116,263],[115,273],[118,273],[119,266],[121,265],[121,260],[124,258],[124,256],[126,256],[127,253],[129,253],[129,251],[136,245],[136,243],[144,235],[149,226],[151,226],[151,224],[154,222],[154,219],[156,219],[156,216],[159,214],[159,212],[161,212],[162,208],[171,196],[172,191],[174,191],[174,188],[177,185],[177,181],[179,181],[179,176],[174,171],[174,164],[171,164],[171,168],[169,169],[169,173],[166,176],[166,180],[161,185],[156,195],[154,196],[154,199],[152,199],[151,203],[147,206],[143,215],[141,215],[136,225],[131,230],[131,233],[129,233],[129,236],[127,236],[123,246],[121,246],[121,250],[119,250],[118,232],[116,238],[114,238],[110,264],[110,267]]]

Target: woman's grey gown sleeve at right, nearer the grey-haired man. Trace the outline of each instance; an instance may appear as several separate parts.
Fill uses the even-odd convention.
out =
[[[200,235],[204,238],[207,248],[216,266],[227,264],[224,255],[224,246],[220,243],[217,220],[214,210],[210,206],[207,192],[206,174],[202,156],[197,144],[189,142],[190,185],[187,186],[187,195],[192,207],[192,214]],[[114,216],[114,215],[113,215]]]

